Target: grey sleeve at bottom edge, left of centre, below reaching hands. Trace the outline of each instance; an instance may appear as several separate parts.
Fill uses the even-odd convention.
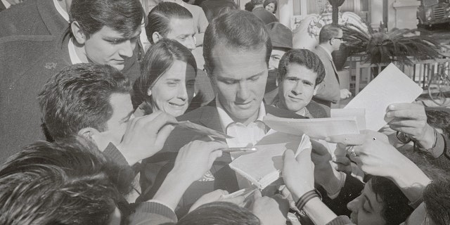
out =
[[[173,210],[157,202],[144,202],[136,206],[136,210],[128,218],[130,225],[174,224],[178,219]]]

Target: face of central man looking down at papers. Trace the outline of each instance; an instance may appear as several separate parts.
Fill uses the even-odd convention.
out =
[[[267,79],[264,44],[257,50],[240,50],[219,41],[212,56],[212,82],[217,86],[221,105],[236,122],[256,118]]]

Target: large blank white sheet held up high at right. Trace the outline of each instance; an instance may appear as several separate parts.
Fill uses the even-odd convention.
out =
[[[366,127],[378,131],[387,122],[387,106],[392,103],[411,103],[423,90],[394,64],[380,72],[345,108],[366,109]]]

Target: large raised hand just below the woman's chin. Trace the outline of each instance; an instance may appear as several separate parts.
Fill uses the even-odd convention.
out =
[[[129,165],[158,153],[177,121],[161,111],[129,120],[127,129],[117,149]]]

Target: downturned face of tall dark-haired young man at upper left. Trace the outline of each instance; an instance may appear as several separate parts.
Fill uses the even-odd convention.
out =
[[[127,39],[123,34],[104,26],[84,41],[86,57],[91,63],[108,64],[123,70],[125,60],[133,56],[139,34],[141,27]]]

